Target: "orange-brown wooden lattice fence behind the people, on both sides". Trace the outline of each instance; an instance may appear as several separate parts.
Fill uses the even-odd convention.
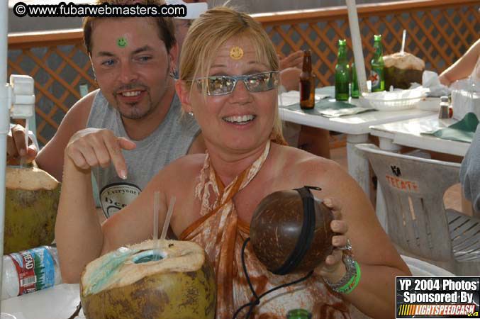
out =
[[[480,38],[479,4],[479,0],[413,0],[359,5],[367,69],[373,35],[381,33],[384,50],[391,53],[400,50],[406,29],[406,50],[425,60],[427,69],[441,72]],[[311,49],[317,84],[333,84],[337,40],[347,38],[351,51],[345,6],[253,16],[282,55]],[[29,74],[35,79],[41,145],[52,138],[68,108],[80,98],[79,86],[87,85],[90,91],[96,88],[82,30],[9,35],[8,66],[9,74]]]

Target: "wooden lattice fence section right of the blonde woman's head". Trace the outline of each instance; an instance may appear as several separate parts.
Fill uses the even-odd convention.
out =
[[[452,65],[480,38],[479,0],[398,1],[358,5],[365,67],[369,72],[374,35],[382,35],[384,54],[401,49],[407,30],[407,52],[425,61],[426,69],[437,73]],[[352,41],[345,6],[322,10],[255,15],[282,55],[292,50],[312,50],[317,85],[333,85],[338,39],[347,39],[350,61]],[[368,73],[367,73],[368,74]]]

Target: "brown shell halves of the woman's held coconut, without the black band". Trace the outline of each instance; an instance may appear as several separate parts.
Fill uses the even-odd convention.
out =
[[[314,198],[315,230],[313,240],[300,264],[292,273],[308,272],[332,253],[330,228],[333,213]],[[250,223],[252,249],[270,272],[275,272],[296,249],[303,227],[303,203],[296,190],[276,191],[259,203]]]

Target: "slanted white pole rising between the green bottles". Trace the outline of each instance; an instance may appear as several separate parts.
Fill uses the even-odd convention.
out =
[[[348,23],[352,36],[353,56],[355,57],[355,68],[357,69],[357,80],[359,91],[367,92],[367,74],[365,74],[365,62],[362,50],[362,38],[358,24],[357,6],[355,0],[347,1]]]

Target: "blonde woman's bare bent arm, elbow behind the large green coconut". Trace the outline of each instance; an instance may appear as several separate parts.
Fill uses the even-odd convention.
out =
[[[124,138],[116,139],[117,142],[112,145],[118,145],[118,149],[109,148],[112,158],[118,158],[113,152],[121,152],[121,148],[128,149],[132,146]],[[168,183],[161,182],[161,171],[135,201],[108,218],[104,225],[100,225],[91,191],[91,169],[85,163],[82,164],[77,142],[84,145],[82,137],[74,135],[65,150],[65,179],[62,182],[55,223],[60,271],[62,280],[66,283],[79,282],[85,265],[101,254],[151,237],[151,203],[155,191],[160,191],[159,225],[163,225],[167,211],[161,186]]]

